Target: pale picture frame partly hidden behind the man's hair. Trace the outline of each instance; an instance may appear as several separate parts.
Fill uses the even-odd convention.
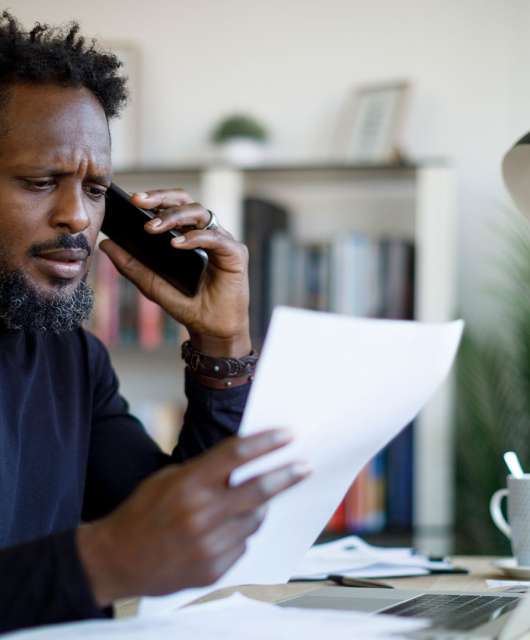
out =
[[[102,49],[114,53],[123,63],[120,72],[127,78],[129,100],[120,115],[110,121],[114,169],[130,169],[142,160],[141,56],[139,47],[127,41],[99,41]]]

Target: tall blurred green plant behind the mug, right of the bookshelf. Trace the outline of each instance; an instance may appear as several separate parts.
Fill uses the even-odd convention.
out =
[[[508,219],[509,220],[509,219]],[[502,454],[530,470],[530,228],[518,213],[502,231],[505,253],[492,289],[502,322],[467,332],[458,360],[456,430],[457,552],[510,555],[493,525],[489,500],[506,486]],[[501,320],[500,319],[500,320]]]

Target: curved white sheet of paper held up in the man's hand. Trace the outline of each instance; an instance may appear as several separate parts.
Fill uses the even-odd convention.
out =
[[[271,502],[246,554],[215,585],[143,599],[140,613],[174,609],[214,588],[287,581],[362,467],[444,380],[462,329],[461,321],[429,325],[276,308],[240,433],[288,426],[295,441],[239,469],[234,481],[297,459],[313,474]]]

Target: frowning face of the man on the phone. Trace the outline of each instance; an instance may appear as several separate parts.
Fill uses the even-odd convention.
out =
[[[71,301],[111,181],[105,114],[86,89],[20,84],[0,122],[0,278],[15,274],[41,303]]]

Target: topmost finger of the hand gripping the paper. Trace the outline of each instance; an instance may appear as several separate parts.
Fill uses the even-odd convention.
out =
[[[252,436],[235,436],[203,453],[189,464],[195,467],[201,484],[211,484],[216,480],[226,481],[237,467],[281,449],[292,440],[292,433],[288,429],[269,429]]]

